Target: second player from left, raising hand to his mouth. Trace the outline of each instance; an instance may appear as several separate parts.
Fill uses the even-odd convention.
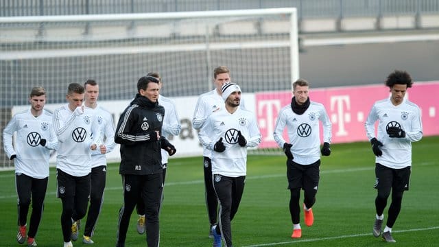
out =
[[[100,145],[97,117],[82,106],[84,86],[69,84],[68,104],[54,112],[59,141],[56,156],[56,196],[62,201],[61,228],[64,247],[78,238],[75,222],[85,216],[91,187],[91,153]],[[92,136],[93,134],[93,136]]]

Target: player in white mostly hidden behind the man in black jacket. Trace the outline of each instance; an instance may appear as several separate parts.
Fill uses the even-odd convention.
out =
[[[147,76],[152,76],[157,78],[160,89],[163,88],[163,81],[157,72],[147,73]],[[181,125],[180,125],[180,117],[178,117],[176,106],[172,99],[169,99],[163,95],[158,95],[159,102],[158,104],[165,108],[165,117],[163,117],[163,126],[162,126],[162,135],[163,137],[169,138],[171,136],[176,136],[180,134]],[[166,168],[169,154],[166,150],[161,150],[162,153],[162,165],[163,165],[163,185],[165,185],[165,177],[166,177]],[[163,202],[163,195],[161,202]],[[145,233],[145,204],[143,204],[143,200],[139,198],[139,202],[137,202],[137,213],[139,214],[139,219],[137,220],[137,232],[139,234]]]

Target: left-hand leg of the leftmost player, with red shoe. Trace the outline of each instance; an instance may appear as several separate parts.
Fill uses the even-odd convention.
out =
[[[27,213],[29,212],[32,178],[25,174],[15,174],[15,189],[18,196],[17,211],[19,231],[16,241],[23,244],[26,239]]]

